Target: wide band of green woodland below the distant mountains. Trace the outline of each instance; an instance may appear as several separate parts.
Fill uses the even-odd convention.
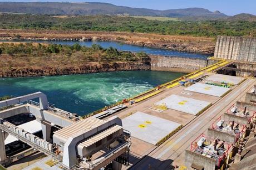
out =
[[[158,33],[164,35],[216,35],[256,37],[256,22],[223,20],[159,21],[117,16],[80,16],[58,18],[47,15],[2,14],[3,29],[91,30],[107,32]]]

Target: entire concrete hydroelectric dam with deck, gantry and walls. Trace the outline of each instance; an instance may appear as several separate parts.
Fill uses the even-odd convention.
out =
[[[46,157],[28,168],[253,169],[256,154],[248,157],[246,148],[255,140],[255,44],[255,38],[218,37],[218,52],[205,64],[194,60],[193,68],[184,59],[192,73],[83,117],[49,104],[42,92],[0,101],[1,148],[7,150],[10,135],[35,148],[1,152],[1,164],[40,151]],[[183,60],[155,60],[156,70],[182,69]],[[9,122],[20,114],[35,116],[41,137]]]

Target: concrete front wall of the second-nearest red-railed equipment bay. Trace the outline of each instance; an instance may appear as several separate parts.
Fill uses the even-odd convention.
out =
[[[230,133],[213,130],[211,128],[208,128],[208,136],[218,138],[219,140],[223,140],[228,143],[234,143],[236,137],[235,135],[232,135]]]

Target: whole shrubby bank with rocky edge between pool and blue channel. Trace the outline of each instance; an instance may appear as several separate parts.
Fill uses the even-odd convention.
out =
[[[91,48],[79,44],[0,44],[0,78],[150,70],[145,53]]]

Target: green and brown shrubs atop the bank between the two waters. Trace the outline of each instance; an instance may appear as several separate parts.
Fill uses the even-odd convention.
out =
[[[130,53],[128,51],[118,51],[115,48],[102,48],[100,45],[93,44],[92,47],[81,46],[76,43],[73,45],[61,44],[32,44],[32,43],[2,43],[0,44],[2,55],[8,54],[14,58],[42,58],[45,56],[61,56],[70,60],[76,58],[77,61],[99,61],[100,63],[116,61],[147,61],[149,56],[146,53]]]

